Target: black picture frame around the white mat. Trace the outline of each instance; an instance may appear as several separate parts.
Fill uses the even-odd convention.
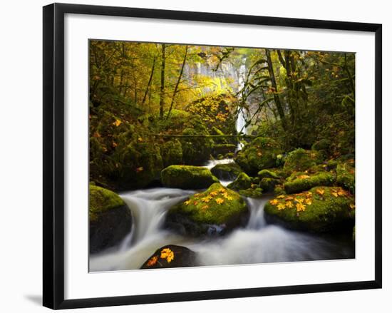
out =
[[[375,34],[375,279],[282,287],[225,289],[171,294],[143,294],[123,297],[64,299],[64,16],[94,14],[148,19],[209,21],[217,23],[289,26],[296,28],[366,31]],[[232,297],[259,297],[276,294],[302,294],[354,289],[381,288],[381,208],[382,208],[382,133],[381,133],[381,24],[345,21],[287,19],[190,11],[133,9],[113,6],[50,4],[43,7],[43,305],[51,309],[103,307],[124,304],[179,302]]]

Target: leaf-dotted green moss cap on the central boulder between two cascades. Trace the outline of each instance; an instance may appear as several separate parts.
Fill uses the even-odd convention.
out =
[[[192,222],[205,224],[239,224],[240,217],[247,213],[247,204],[242,197],[220,183],[210,186],[204,193],[197,193],[185,202],[172,207],[168,214],[180,214]]]

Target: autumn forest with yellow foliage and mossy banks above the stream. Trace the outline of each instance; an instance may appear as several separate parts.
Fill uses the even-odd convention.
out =
[[[90,176],[114,190],[154,184],[271,138],[282,156],[355,153],[355,54],[90,41]],[[239,116],[243,118],[238,128]]]

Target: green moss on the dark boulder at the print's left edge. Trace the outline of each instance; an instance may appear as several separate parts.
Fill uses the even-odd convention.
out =
[[[90,221],[97,220],[101,212],[125,205],[119,195],[105,188],[90,184],[88,202],[88,217]]]

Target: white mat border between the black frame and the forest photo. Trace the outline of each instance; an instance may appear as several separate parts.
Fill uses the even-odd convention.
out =
[[[368,166],[374,163],[374,111],[369,110],[374,106],[374,66],[368,62],[374,58],[374,35],[72,14],[65,24],[66,299],[374,279],[374,168]],[[355,51],[356,260],[89,274],[88,210],[79,210],[88,207],[89,38]]]

